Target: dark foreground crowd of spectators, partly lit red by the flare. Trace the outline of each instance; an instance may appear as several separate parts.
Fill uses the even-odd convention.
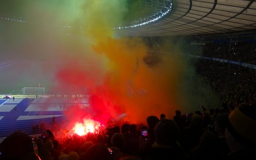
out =
[[[56,139],[16,131],[0,144],[0,160],[250,160],[256,151],[256,102],[167,119],[146,118],[146,125],[119,121],[102,132]],[[142,135],[141,130],[147,130]],[[36,144],[35,150],[33,144]]]

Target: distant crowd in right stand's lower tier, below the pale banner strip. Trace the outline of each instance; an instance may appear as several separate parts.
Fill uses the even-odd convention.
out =
[[[251,104],[256,100],[255,70],[203,59],[196,66],[197,74],[221,101],[229,105],[239,105],[243,102]]]

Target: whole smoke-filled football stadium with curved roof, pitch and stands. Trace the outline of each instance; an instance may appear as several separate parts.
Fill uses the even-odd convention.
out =
[[[256,143],[254,0],[3,0],[0,53],[0,160],[21,157],[3,149],[16,132],[33,138],[42,160],[45,135],[62,146],[58,152],[69,158],[76,152],[85,160],[90,153],[81,151],[82,144],[91,133],[93,144],[101,135],[104,147],[112,149],[108,160],[171,156],[170,150],[157,158],[150,153],[150,140],[158,143],[159,137],[149,119],[160,123],[161,114],[178,126],[177,141],[188,160],[210,158],[211,148],[200,150],[200,140],[223,136],[214,119],[221,113],[228,113],[228,120],[221,120],[234,139],[247,149]],[[200,132],[188,132],[199,121]],[[114,133],[121,134],[125,125],[130,126],[125,146],[114,146]],[[143,129],[149,132],[146,140]],[[131,137],[137,139],[128,141]],[[74,144],[67,151],[69,139]],[[143,148],[143,141],[153,148]],[[214,153],[224,159],[232,159],[228,152],[238,154],[225,149]],[[251,150],[255,146],[248,156]],[[61,157],[49,152],[54,160]]]

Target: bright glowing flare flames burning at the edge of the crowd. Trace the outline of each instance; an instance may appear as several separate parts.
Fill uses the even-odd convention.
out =
[[[76,123],[75,127],[73,128],[73,132],[78,134],[79,136],[83,136],[89,132],[91,133],[97,132],[100,126],[101,124],[99,121],[84,119],[84,124]]]

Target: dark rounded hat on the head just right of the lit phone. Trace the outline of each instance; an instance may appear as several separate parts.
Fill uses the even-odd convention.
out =
[[[175,121],[164,118],[154,128],[156,143],[160,145],[172,145],[179,139],[179,127]]]

